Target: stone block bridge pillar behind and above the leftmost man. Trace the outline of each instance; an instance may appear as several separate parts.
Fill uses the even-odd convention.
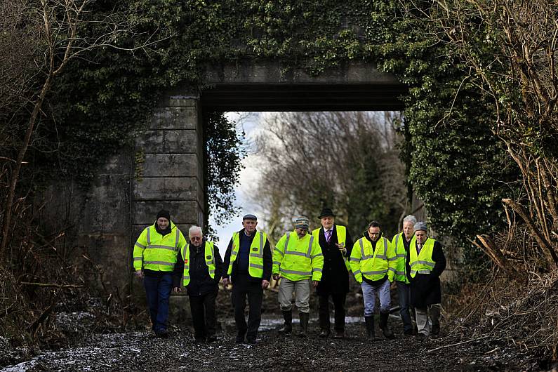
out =
[[[204,222],[201,114],[197,98],[171,97],[135,142],[132,237],[151,225],[161,208],[187,235]]]

